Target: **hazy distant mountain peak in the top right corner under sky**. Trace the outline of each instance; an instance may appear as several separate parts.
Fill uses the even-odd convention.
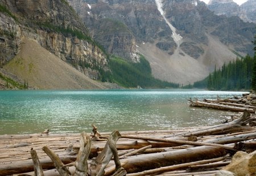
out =
[[[239,16],[245,22],[256,23],[256,0],[248,0],[241,6],[232,0],[211,0],[208,7],[216,15]]]

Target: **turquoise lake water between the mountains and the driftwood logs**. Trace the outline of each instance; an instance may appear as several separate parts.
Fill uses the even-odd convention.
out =
[[[241,96],[202,90],[0,91],[0,135],[168,130],[219,124],[228,111],[189,106],[187,98]]]

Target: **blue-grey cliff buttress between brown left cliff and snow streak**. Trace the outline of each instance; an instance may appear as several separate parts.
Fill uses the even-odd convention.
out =
[[[86,3],[82,0],[68,0],[68,2],[75,8],[80,18],[84,20],[93,38],[108,53],[134,62],[138,61],[139,56],[134,34],[125,23],[119,20],[119,14],[110,5],[110,3],[115,2],[89,1]],[[112,18],[112,16],[117,19]]]

